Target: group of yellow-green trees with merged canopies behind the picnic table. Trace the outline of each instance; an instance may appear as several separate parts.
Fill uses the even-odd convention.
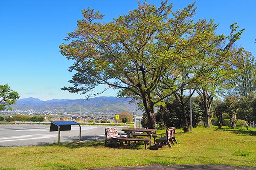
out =
[[[175,99],[185,131],[189,131],[186,104],[197,93],[205,125],[210,127],[214,97],[227,96],[236,84],[241,88],[236,79],[247,74],[240,74],[243,63],[237,57],[251,54],[233,48],[244,29],[233,23],[229,35],[218,35],[214,20],[193,20],[195,11],[195,3],[172,11],[167,0],[159,7],[138,2],[137,9],[102,23],[99,11],[82,10],[84,19],[60,45],[61,54],[74,61],[69,71],[76,72],[69,81],[73,86],[62,89],[87,97],[97,95],[92,91],[98,85],[105,85],[102,92],[119,89],[118,96],[141,101],[148,128],[156,127],[155,107],[163,112],[166,100]],[[192,93],[186,97],[188,89]],[[243,93],[250,91],[246,88]]]

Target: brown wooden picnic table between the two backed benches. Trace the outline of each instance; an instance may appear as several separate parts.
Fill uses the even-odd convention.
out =
[[[153,136],[157,136],[157,135],[155,135],[156,129],[128,128],[128,129],[122,129],[122,131],[127,133],[128,138],[130,138],[130,139],[131,139],[131,136],[134,136],[134,137],[136,137],[136,136],[149,136],[149,139],[150,139],[150,143],[149,144],[150,144],[150,146],[151,146],[151,142],[152,142],[152,135]],[[143,132],[146,133],[146,134],[143,134]],[[135,141],[135,139],[134,139],[134,141]]]

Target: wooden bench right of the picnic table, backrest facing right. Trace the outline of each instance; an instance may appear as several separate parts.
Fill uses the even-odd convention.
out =
[[[175,127],[167,127],[165,134],[166,136],[163,136],[160,139],[155,139],[156,149],[158,149],[159,146],[163,147],[163,145],[166,145],[166,144],[169,147],[172,147],[171,143],[172,144],[174,144],[174,142],[177,143],[177,140],[175,139]]]

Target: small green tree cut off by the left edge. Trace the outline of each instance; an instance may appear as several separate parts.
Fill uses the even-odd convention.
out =
[[[0,111],[8,108],[12,110],[11,105],[19,98],[19,94],[13,91],[8,84],[0,85]]]

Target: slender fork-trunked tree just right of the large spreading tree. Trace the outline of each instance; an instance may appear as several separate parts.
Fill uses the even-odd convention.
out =
[[[215,46],[215,50],[207,51],[204,53],[206,59],[215,62],[215,67],[211,65],[204,65],[207,70],[202,78],[203,81],[197,83],[197,92],[201,96],[204,102],[204,116],[205,126],[210,127],[210,110],[212,101],[216,95],[218,89],[225,88],[226,84],[223,83],[228,79],[232,79],[235,71],[232,69],[234,63],[231,49],[233,44],[241,38],[241,34],[244,29],[237,31],[237,23],[230,25],[230,35],[227,37],[227,42],[223,41]]]

